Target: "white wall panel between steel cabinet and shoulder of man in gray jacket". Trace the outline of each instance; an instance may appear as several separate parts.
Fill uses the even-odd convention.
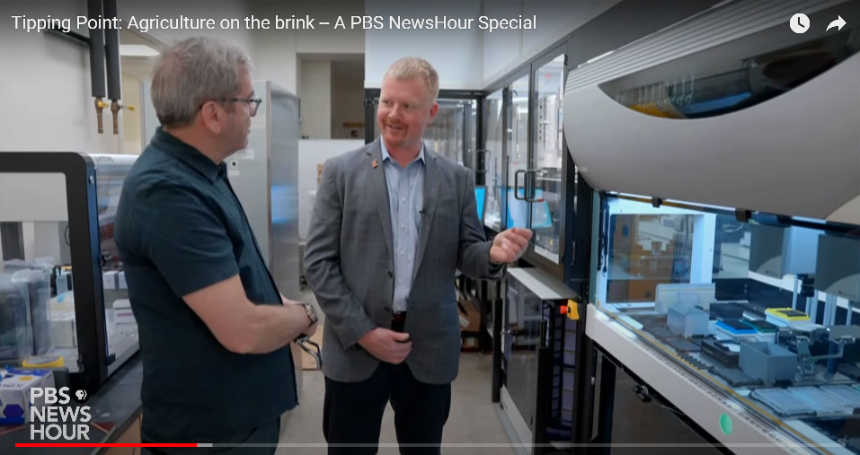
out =
[[[306,139],[298,143],[298,238],[305,241],[313,210],[312,192],[316,191],[316,166],[341,153],[364,146],[364,139],[319,141]]]

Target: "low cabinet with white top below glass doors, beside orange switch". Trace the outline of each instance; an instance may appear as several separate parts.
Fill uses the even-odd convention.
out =
[[[573,381],[581,306],[558,280],[536,267],[511,268],[505,278],[501,407],[510,436],[527,453],[550,453],[571,440]],[[516,441],[519,440],[519,441]]]

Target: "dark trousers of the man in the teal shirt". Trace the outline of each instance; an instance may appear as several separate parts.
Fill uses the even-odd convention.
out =
[[[141,434],[140,439],[143,443],[157,442],[148,440],[145,434]],[[280,418],[253,430],[226,435],[219,439],[221,442],[213,444],[214,447],[168,449],[144,447],[140,453],[142,455],[274,455],[278,450],[280,439]]]

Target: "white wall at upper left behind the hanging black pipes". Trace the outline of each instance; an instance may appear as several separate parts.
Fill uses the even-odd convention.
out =
[[[49,6],[48,6],[49,5]],[[16,31],[12,15],[85,14],[83,0],[4,0],[0,17],[0,151],[120,153],[110,109],[97,131],[89,50],[44,33]],[[122,122],[120,112],[120,125]]]

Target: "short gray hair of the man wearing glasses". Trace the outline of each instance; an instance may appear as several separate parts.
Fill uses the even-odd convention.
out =
[[[183,39],[164,49],[152,72],[152,103],[164,127],[188,125],[203,103],[234,98],[243,70],[251,71],[244,50],[218,39]]]

